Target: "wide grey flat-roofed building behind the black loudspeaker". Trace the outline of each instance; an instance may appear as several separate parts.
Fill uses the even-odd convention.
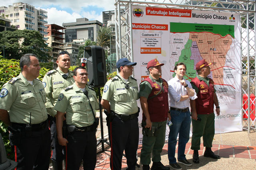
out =
[[[102,26],[98,20],[89,21],[87,18],[77,18],[76,22],[62,23],[66,29],[65,42],[71,42],[76,39],[90,39],[96,41],[97,30]]]

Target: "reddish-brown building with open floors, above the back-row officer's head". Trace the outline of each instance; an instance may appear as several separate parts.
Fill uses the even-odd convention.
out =
[[[49,52],[51,58],[51,61],[54,63],[54,67],[57,67],[56,60],[58,57],[58,53],[61,51],[64,51],[65,49],[63,48],[63,37],[62,35],[64,34],[62,32],[63,29],[66,29],[60,25],[56,24],[49,24],[46,25],[47,27],[47,44],[48,47],[52,48],[52,51]]]

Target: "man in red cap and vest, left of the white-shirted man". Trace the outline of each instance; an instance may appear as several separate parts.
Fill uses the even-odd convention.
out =
[[[170,120],[168,104],[168,83],[160,78],[161,66],[157,59],[148,62],[147,69],[150,74],[140,84],[140,104],[142,117],[142,150],[140,162],[143,170],[149,170],[150,154],[152,152],[153,165],[151,170],[169,170],[161,161],[161,152],[165,141],[166,120]],[[168,113],[169,112],[169,113]]]

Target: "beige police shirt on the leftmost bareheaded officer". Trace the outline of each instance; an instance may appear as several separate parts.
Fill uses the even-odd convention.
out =
[[[4,84],[0,102],[0,109],[9,110],[11,122],[30,123],[30,112],[31,124],[42,123],[47,119],[46,92],[38,79],[34,79],[31,85],[20,73]]]

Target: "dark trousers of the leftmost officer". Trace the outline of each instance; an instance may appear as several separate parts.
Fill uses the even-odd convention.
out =
[[[13,137],[15,133],[10,132],[10,139],[15,141],[15,160],[18,162],[17,170],[48,170],[50,157],[50,131],[48,123],[41,131],[32,131],[30,137],[22,131],[19,137]],[[12,140],[10,140],[12,143]]]

